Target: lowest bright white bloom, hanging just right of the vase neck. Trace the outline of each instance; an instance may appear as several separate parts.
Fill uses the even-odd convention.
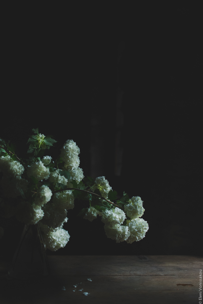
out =
[[[67,220],[68,219],[66,217],[64,222],[67,223]],[[68,234],[67,230],[62,229],[63,223],[60,227],[53,229],[39,222],[40,230],[43,232],[42,239],[45,249],[56,251],[62,247],[65,247],[65,245],[68,243],[70,235]]]

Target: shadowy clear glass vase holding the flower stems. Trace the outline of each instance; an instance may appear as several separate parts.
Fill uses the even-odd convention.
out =
[[[12,278],[49,275],[49,263],[38,223],[25,224],[8,274]]]

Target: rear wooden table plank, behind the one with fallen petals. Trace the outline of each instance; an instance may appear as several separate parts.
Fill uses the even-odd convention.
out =
[[[203,257],[186,257],[184,261],[182,256],[178,258],[180,262],[156,257],[148,256],[147,261],[137,256],[48,256],[48,259],[50,275],[196,275],[203,264]]]

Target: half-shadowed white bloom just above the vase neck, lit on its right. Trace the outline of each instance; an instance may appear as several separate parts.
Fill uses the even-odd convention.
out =
[[[37,224],[43,218],[44,212],[40,206],[21,201],[15,210],[16,219],[27,225]]]

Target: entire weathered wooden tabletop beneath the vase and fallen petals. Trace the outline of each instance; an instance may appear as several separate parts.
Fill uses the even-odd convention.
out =
[[[7,274],[8,263],[0,259],[0,303],[196,304],[202,302],[198,299],[199,271],[203,268],[203,257],[200,256],[58,255],[48,256],[48,260],[50,275],[32,281],[10,278]],[[74,288],[76,284],[78,286]],[[82,288],[83,290],[79,291]],[[89,294],[86,296],[83,292]]]

